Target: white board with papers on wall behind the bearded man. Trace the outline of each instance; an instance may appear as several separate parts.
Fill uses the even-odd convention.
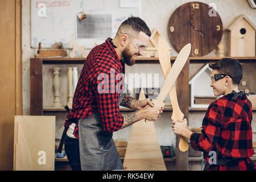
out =
[[[131,8],[120,7],[119,0],[32,0],[31,47],[38,48],[39,42],[41,42],[43,48],[51,47],[55,42],[63,42],[63,46],[69,48],[68,43],[71,40],[76,40],[79,45],[93,48],[95,43],[100,44],[105,42],[108,37],[95,38],[94,36],[91,39],[77,38],[77,13],[81,11],[84,11],[86,15],[111,14],[112,30],[110,37],[114,38],[123,20],[127,19],[130,15],[141,16],[141,0],[139,0],[139,7]],[[88,18],[90,17],[92,16],[88,16]],[[82,21],[85,20],[83,19]],[[106,27],[106,24],[102,24],[102,27]]]

